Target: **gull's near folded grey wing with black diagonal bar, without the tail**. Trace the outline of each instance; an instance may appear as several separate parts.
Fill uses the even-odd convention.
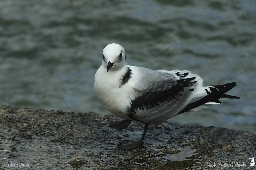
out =
[[[187,70],[157,70],[153,75],[153,80],[141,78],[137,84],[133,84],[137,85],[135,89],[140,87],[145,91],[132,100],[129,116],[134,120],[155,123],[178,115],[189,104],[194,92],[203,85],[202,78]],[[164,78],[156,78],[157,75]]]

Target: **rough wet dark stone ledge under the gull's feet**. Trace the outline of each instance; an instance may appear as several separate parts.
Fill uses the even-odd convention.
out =
[[[201,170],[207,162],[240,163],[222,169],[256,167],[249,167],[249,158],[256,157],[253,133],[162,122],[149,125],[143,147],[124,151],[117,145],[138,140],[143,127],[132,122],[122,131],[108,128],[108,122],[117,119],[4,105],[0,107],[0,169],[8,169],[3,165],[11,162],[29,164],[23,169]]]

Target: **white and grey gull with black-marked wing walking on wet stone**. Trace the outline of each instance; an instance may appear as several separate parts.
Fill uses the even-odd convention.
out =
[[[94,76],[96,95],[108,111],[124,118],[109,126],[121,130],[131,121],[145,124],[140,140],[119,145],[122,149],[142,146],[150,123],[221,104],[220,98],[239,99],[225,94],[236,82],[203,86],[203,79],[188,70],[151,70],[127,65],[124,48],[116,43],[108,44],[102,56]]]

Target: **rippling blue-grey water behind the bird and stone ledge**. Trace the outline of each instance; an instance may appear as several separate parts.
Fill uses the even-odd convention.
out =
[[[237,82],[225,100],[170,119],[256,133],[256,1],[1,0],[0,104],[110,114],[94,93],[102,49],[129,65]]]

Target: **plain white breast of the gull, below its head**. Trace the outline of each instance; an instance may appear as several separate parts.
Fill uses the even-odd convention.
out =
[[[104,67],[100,66],[94,76],[94,89],[102,105],[108,111],[119,117],[131,119],[127,115],[135,90],[128,84],[119,87],[125,70],[127,66],[123,70],[107,72]]]

